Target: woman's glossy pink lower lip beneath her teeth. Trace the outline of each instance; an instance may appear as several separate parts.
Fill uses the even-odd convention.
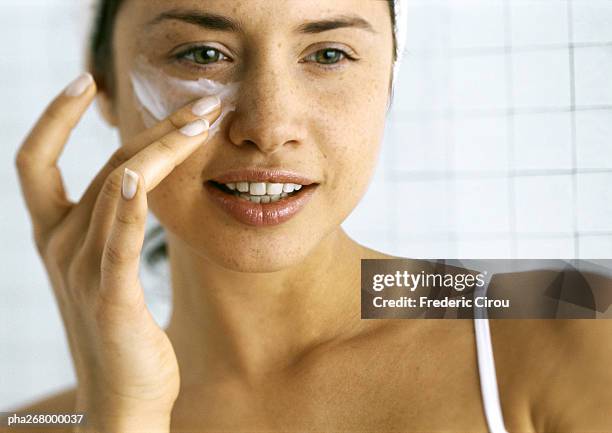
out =
[[[204,182],[204,188],[221,209],[241,223],[258,227],[281,224],[295,216],[306,206],[317,186],[317,184],[303,186],[297,194],[273,203],[253,203],[225,193],[210,182]]]

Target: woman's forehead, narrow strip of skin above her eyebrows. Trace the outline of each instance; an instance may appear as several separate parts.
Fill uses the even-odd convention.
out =
[[[229,18],[211,28],[235,33],[304,33],[304,23],[329,18],[351,21],[347,28],[373,34],[391,27],[386,0],[126,0],[120,12],[130,28],[142,30],[176,24],[173,16],[199,14]]]

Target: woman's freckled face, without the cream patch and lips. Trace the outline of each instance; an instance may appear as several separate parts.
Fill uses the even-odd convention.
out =
[[[238,28],[206,26],[204,14]],[[353,18],[338,28],[308,25]],[[273,271],[304,259],[338,229],[371,178],[389,98],[391,26],[380,0],[125,1],[113,41],[122,141],[145,128],[129,79],[139,56],[178,78],[239,83],[220,131],[150,192],[161,224],[233,270]],[[317,185],[288,220],[252,225],[205,187],[242,168],[289,170]]]

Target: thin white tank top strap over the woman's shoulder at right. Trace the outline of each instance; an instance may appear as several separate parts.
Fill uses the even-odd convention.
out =
[[[483,296],[492,276],[487,278],[483,288],[476,290],[475,296]],[[474,332],[476,333],[476,352],[478,355],[478,372],[480,375],[480,391],[484,405],[485,417],[490,433],[507,433],[497,388],[493,344],[487,310],[474,307]]]

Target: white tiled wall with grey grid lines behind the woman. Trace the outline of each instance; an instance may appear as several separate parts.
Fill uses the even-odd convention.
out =
[[[609,258],[612,2],[408,2],[408,56],[349,235],[406,257]],[[0,3],[0,221],[11,247],[1,261],[0,410],[74,383],[12,163],[46,101],[82,69],[85,3]],[[60,159],[71,198],[117,145],[91,110]],[[144,274],[163,319],[163,293]]]

